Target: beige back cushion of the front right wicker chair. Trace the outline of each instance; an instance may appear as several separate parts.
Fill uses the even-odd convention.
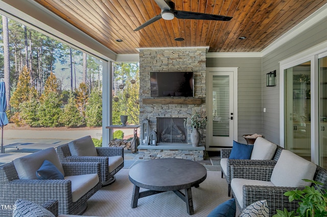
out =
[[[302,179],[313,180],[317,165],[300,156],[283,150],[272,171],[270,181],[275,186],[304,187],[311,185]]]

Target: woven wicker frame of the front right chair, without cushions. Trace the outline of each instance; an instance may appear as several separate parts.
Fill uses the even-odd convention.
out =
[[[231,179],[242,178],[250,180],[270,181],[274,165],[231,165]],[[313,180],[323,183],[321,188],[327,189],[327,170],[317,166]],[[296,210],[298,208],[298,201],[289,202],[288,197],[284,193],[289,190],[295,190],[296,187],[279,187],[279,186],[258,186],[258,185],[244,185],[243,186],[243,207],[259,200],[267,200],[269,207],[269,216],[276,213],[276,209],[288,211]],[[302,188],[297,188],[302,189]],[[235,193],[232,191],[232,197]],[[237,203],[239,208],[242,207]]]

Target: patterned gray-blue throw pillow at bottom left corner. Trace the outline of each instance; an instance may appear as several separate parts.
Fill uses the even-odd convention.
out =
[[[18,199],[15,206],[13,217],[55,217],[52,212],[44,207],[24,199]]]

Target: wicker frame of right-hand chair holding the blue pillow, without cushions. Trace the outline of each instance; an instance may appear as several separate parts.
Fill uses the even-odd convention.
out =
[[[230,167],[231,165],[275,165],[279,156],[282,153],[282,150],[284,148],[277,146],[276,152],[272,158],[272,160],[244,160],[244,159],[227,159],[227,171],[224,172],[221,170],[221,178],[225,176],[225,179],[228,184],[228,197],[230,197],[230,182],[231,182],[231,176],[230,176]],[[221,158],[229,158],[231,149],[222,149],[220,151]]]

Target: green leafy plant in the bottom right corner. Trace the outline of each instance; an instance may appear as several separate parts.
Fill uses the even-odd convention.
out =
[[[289,197],[289,201],[299,200],[299,207],[296,210],[288,211],[286,208],[284,211],[276,210],[277,213],[273,217],[322,217],[327,216],[327,190],[321,189],[319,185],[322,183],[303,179],[306,182],[312,182],[315,186],[306,186],[302,190],[290,190],[285,192],[285,196]]]

